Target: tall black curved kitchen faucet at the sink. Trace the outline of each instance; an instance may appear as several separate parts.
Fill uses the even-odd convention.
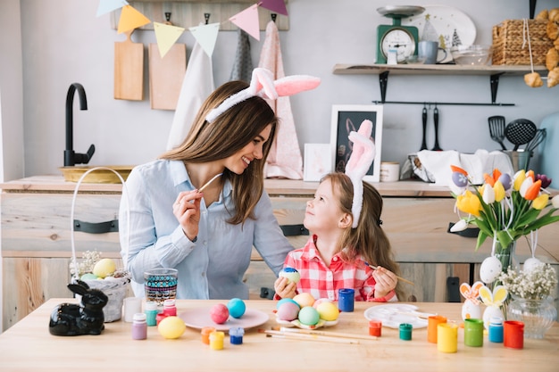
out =
[[[73,83],[68,88],[68,95],[66,95],[66,150],[64,150],[64,167],[71,167],[76,164],[87,164],[93,153],[96,152],[96,146],[90,145],[88,153],[74,153],[73,145],[73,103],[74,93],[78,91],[79,95],[79,110],[88,110],[88,100],[86,98],[86,91],[79,83]]]

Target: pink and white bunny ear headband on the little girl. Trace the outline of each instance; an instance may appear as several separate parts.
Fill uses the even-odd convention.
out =
[[[354,215],[352,227],[354,228],[359,223],[363,208],[363,177],[371,168],[375,158],[376,147],[371,140],[371,133],[372,121],[363,120],[359,130],[352,131],[348,136],[349,140],[354,143],[354,150],[346,164],[346,175],[354,185],[354,202],[351,206],[351,212]]]

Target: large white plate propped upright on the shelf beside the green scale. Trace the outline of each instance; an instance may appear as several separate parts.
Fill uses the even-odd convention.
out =
[[[445,5],[423,6],[425,12],[402,19],[405,26],[415,26],[419,31],[420,40],[438,41],[445,43],[446,58],[440,63],[452,62],[450,48],[453,45],[471,45],[476,39],[476,27],[465,13],[456,8]],[[439,52],[443,54],[443,52]],[[443,54],[444,55],[444,54]],[[442,55],[439,55],[442,58]]]

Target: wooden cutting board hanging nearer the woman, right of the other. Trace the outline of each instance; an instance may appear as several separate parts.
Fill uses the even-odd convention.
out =
[[[174,44],[161,58],[157,44],[150,44],[149,100],[154,110],[175,110],[187,72],[187,45]]]

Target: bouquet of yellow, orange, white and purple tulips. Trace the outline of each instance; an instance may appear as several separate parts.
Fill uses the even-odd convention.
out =
[[[559,195],[550,200],[546,187],[551,179],[545,175],[522,169],[511,177],[494,169],[492,175],[484,175],[482,186],[475,186],[464,169],[451,168],[455,208],[468,213],[451,231],[461,231],[470,223],[479,227],[476,250],[488,237],[493,238],[494,246],[498,243],[507,247],[519,237],[559,221],[559,215],[554,215],[559,209]]]

